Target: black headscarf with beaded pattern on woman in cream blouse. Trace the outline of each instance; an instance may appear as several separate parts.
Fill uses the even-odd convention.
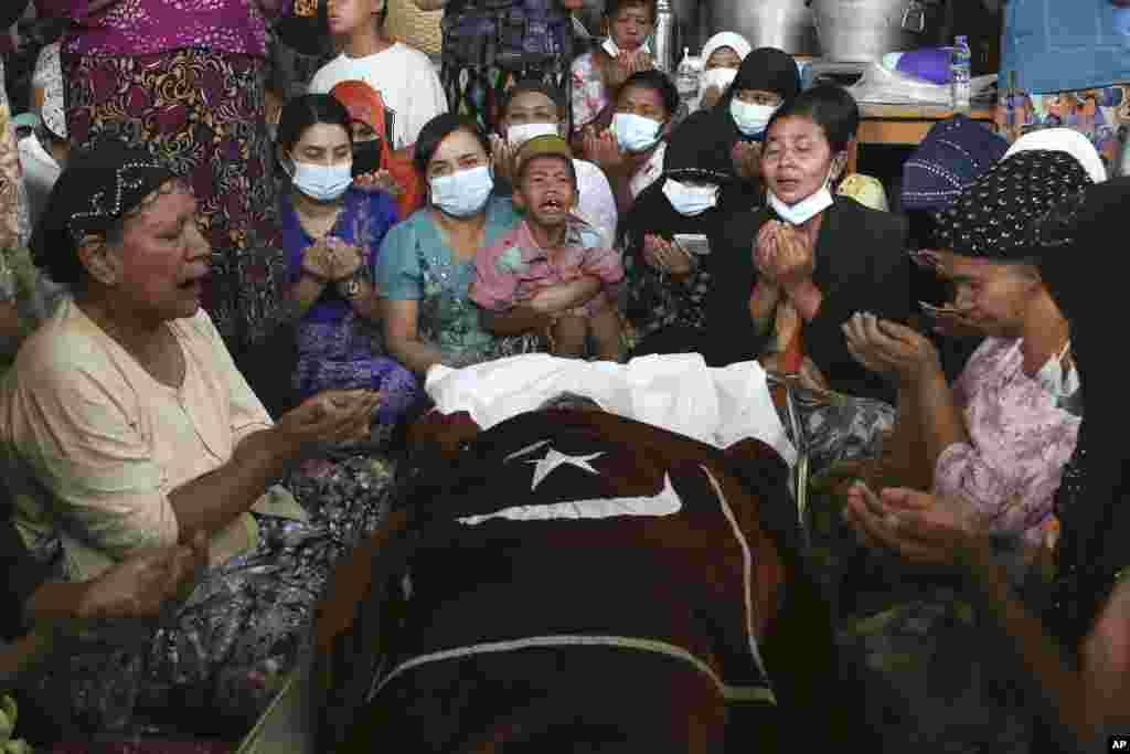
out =
[[[32,234],[32,258],[55,283],[82,279],[78,246],[87,234],[105,234],[150,193],[176,177],[148,150],[106,137],[72,153],[47,197]]]

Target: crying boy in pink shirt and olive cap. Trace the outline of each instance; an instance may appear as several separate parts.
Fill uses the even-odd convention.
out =
[[[525,220],[476,255],[470,296],[493,313],[496,331],[506,329],[507,318],[529,321],[550,310],[556,356],[584,356],[591,336],[600,358],[618,362],[615,302],[624,267],[600,233],[571,214],[576,200],[573,153],[565,139],[547,135],[527,141],[518,153],[514,185],[514,206],[525,211]],[[601,287],[577,300],[576,288],[588,276],[599,278]],[[536,304],[547,296],[564,298],[565,305]]]

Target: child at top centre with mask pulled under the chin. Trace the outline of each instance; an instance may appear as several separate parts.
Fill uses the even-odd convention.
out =
[[[652,68],[647,38],[654,31],[654,0],[607,0],[599,50],[573,61],[574,133],[585,127],[608,128],[617,93],[629,76]]]

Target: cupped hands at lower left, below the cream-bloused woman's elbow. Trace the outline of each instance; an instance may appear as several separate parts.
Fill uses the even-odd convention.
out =
[[[155,618],[166,600],[184,596],[207,567],[208,537],[203,531],[198,531],[190,545],[134,553],[87,583],[76,617]]]

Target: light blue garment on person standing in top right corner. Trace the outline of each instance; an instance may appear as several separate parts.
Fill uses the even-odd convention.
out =
[[[1130,37],[1110,0],[1010,0],[1000,86],[1009,71],[1029,94],[1130,83]]]

